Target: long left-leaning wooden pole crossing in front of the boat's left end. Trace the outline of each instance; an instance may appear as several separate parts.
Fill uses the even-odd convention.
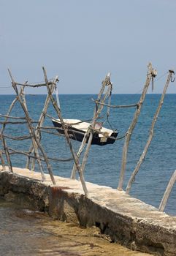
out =
[[[56,113],[58,114],[58,118],[60,119],[61,125],[62,125],[62,127],[63,127],[63,129],[64,129],[64,134],[65,134],[65,137],[66,137],[66,141],[67,141],[67,143],[68,143],[68,145],[69,145],[69,149],[70,149],[70,151],[71,151],[71,153],[72,153],[72,157],[73,157],[73,159],[74,159],[75,165],[77,166],[77,170],[78,170],[78,173],[79,173],[79,176],[80,176],[80,181],[81,181],[81,184],[82,184],[82,186],[83,186],[83,190],[84,190],[84,192],[85,192],[85,195],[88,195],[88,189],[87,189],[86,184],[85,184],[85,179],[84,179],[84,176],[83,176],[83,172],[82,172],[82,170],[81,170],[81,167],[80,167],[79,159],[77,158],[77,155],[74,153],[74,150],[73,150],[73,148],[72,148],[72,143],[71,143],[71,141],[70,141],[70,139],[69,139],[68,128],[67,128],[66,125],[64,124],[64,120],[63,120],[63,118],[62,118],[62,116],[61,116],[61,110],[60,110],[60,108],[58,107],[56,100],[53,98],[53,95],[51,94],[50,86],[48,85],[47,73],[46,73],[46,71],[45,71],[45,68],[43,67],[42,69],[43,69],[43,72],[44,72],[45,83],[46,83],[46,85],[47,85],[47,92],[48,92],[48,95],[50,96],[50,100],[51,100],[51,102],[52,102],[52,104],[53,104],[53,107],[54,107],[55,110],[56,110]]]

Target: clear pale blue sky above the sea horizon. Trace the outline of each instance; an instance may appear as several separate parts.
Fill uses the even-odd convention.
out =
[[[115,94],[136,94],[149,61],[161,93],[176,71],[175,13],[175,0],[0,0],[0,94],[14,94],[7,68],[19,83],[36,83],[43,66],[58,75],[60,94],[96,94],[108,72]]]

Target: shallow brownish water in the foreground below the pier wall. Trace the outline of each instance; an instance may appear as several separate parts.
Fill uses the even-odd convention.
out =
[[[0,255],[149,256],[111,243],[96,227],[81,228],[50,219],[0,199]]]

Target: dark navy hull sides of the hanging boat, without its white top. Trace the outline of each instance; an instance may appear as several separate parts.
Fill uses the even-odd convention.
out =
[[[57,131],[61,134],[64,134],[64,129],[61,126],[61,123],[58,121],[53,121],[54,127],[57,128]],[[74,127],[68,127],[68,133],[69,133],[69,138],[72,138],[72,140],[78,140],[82,141],[85,135],[85,132],[83,130],[74,128]],[[115,138],[117,138],[118,132],[112,132],[111,138],[104,138],[104,137],[99,137],[98,132],[93,133],[93,139],[92,139],[92,145],[99,145],[99,146],[104,146],[107,144],[113,144],[115,143]],[[89,136],[88,136],[89,138]],[[88,138],[86,140],[86,143],[88,143]]]

